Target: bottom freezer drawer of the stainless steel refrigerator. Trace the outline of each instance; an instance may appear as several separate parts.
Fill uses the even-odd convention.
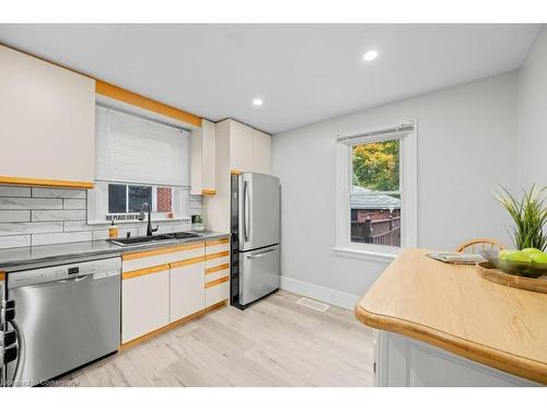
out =
[[[246,305],[280,285],[279,245],[240,253],[240,304]]]

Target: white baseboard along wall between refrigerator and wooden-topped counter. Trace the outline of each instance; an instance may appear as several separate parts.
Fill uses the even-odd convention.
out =
[[[281,277],[281,289],[350,311],[353,311],[356,303],[360,298],[360,296],[350,293],[319,286],[310,282],[302,282],[288,277]]]

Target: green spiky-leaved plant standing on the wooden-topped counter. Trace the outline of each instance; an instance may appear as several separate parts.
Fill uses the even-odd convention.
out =
[[[499,186],[496,199],[509,212],[513,224],[509,231],[516,249],[545,250],[547,234],[544,225],[547,223],[545,199],[547,187],[533,185],[528,191],[523,190],[522,199],[516,199],[505,188]]]

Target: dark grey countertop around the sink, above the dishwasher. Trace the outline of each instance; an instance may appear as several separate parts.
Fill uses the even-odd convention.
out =
[[[57,265],[68,259],[88,258],[95,256],[120,256],[124,253],[161,248],[189,242],[213,239],[229,236],[226,233],[203,231],[199,236],[167,239],[153,243],[119,246],[108,241],[74,242],[69,244],[26,246],[21,248],[0,249],[0,270],[9,273],[14,270],[35,269]]]

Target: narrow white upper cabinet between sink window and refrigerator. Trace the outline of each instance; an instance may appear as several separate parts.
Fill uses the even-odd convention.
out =
[[[217,125],[201,120],[201,128],[191,133],[191,194],[214,195],[217,192]]]

